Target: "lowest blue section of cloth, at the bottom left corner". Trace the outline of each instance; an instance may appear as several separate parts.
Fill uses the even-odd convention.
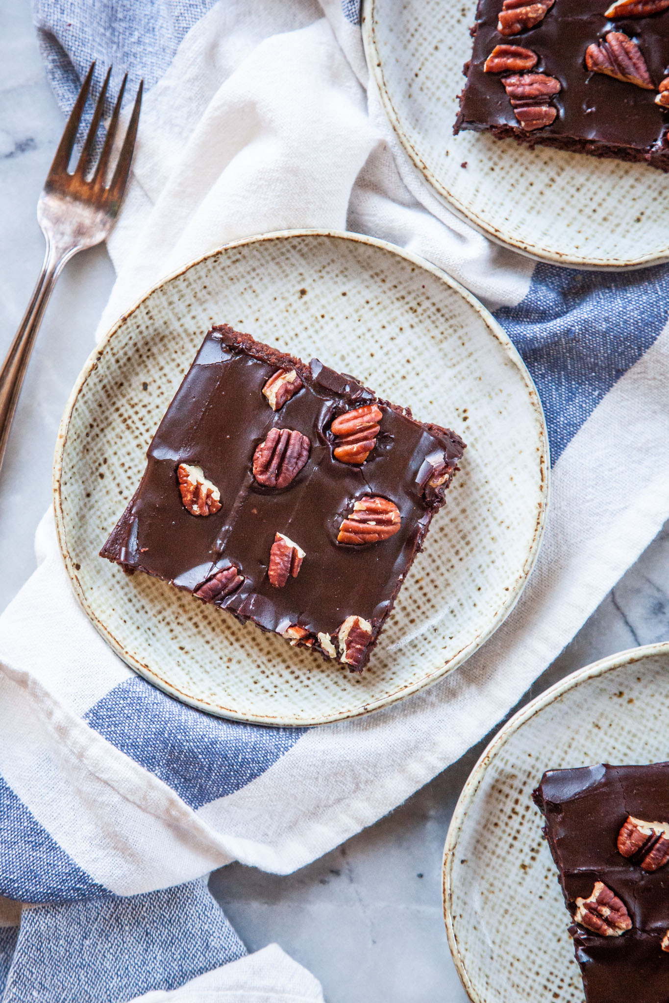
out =
[[[206,878],[147,895],[39,906],[22,917],[2,999],[123,1003],[245,954]]]

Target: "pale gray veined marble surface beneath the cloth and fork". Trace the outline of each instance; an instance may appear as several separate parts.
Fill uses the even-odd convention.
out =
[[[35,204],[61,129],[27,0],[0,0],[2,354],[41,264]],[[80,255],[46,314],[0,477],[0,609],[34,568],[58,421],[112,281],[103,249]],[[668,597],[669,525],[526,699],[605,655],[669,638]],[[483,745],[291,877],[237,865],[217,872],[212,889],[248,948],[281,944],[321,980],[328,1003],[464,1001],[441,917],[440,862],[451,811]]]

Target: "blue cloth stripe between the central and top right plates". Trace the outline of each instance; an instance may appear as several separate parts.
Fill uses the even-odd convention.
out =
[[[669,267],[581,272],[540,264],[525,299],[494,316],[537,384],[555,463],[661,334],[669,317]]]

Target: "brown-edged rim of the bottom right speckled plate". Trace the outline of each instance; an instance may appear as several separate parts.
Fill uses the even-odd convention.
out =
[[[556,700],[564,696],[565,693],[578,688],[584,683],[590,682],[592,679],[598,679],[600,676],[604,676],[609,672],[615,672],[618,669],[627,668],[629,665],[634,665],[635,662],[642,662],[646,658],[655,658],[658,655],[664,655],[669,658],[669,641],[658,641],[655,644],[640,645],[638,648],[627,648],[625,651],[619,651],[613,655],[607,655],[605,658],[600,658],[598,661],[591,662],[590,665],[586,665],[584,668],[577,669],[576,672],[570,673],[570,675],[561,679],[553,686],[550,686],[549,689],[540,693],[539,696],[535,697],[534,700],[531,700],[530,703],[526,704],[525,707],[522,707],[516,714],[514,714],[514,716],[507,721],[507,723],[497,731],[492,740],[483,749],[478,760],[476,761],[475,766],[469,773],[460,795],[457,798],[457,803],[455,804],[455,809],[450,819],[446,840],[443,846],[443,856],[441,859],[441,904],[443,909],[443,921],[446,927],[446,936],[448,938],[448,947],[453,959],[453,964],[455,965],[455,970],[460,978],[460,982],[462,983],[467,996],[471,1000],[471,1003],[489,1003],[489,1001],[486,1001],[476,992],[467,974],[464,958],[459,949],[451,910],[453,897],[452,871],[453,861],[456,857],[455,851],[457,848],[457,841],[460,832],[462,831],[466,813],[478,792],[478,788],[480,787],[488,766],[493,761],[497,752],[499,752],[509,739],[515,735],[516,732],[523,727],[523,725],[527,724],[528,721],[530,721],[537,714],[541,713],[543,710],[546,710],[547,707],[550,707],[551,704],[555,703]]]

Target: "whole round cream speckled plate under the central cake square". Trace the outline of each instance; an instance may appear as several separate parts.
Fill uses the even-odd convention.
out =
[[[224,321],[353,373],[469,444],[362,676],[97,557],[204,335]],[[509,339],[468,293],[390,245],[289,233],[196,262],[109,332],[62,421],[55,509],[76,594],[128,665],[216,714],[317,724],[420,689],[492,633],[537,555],[546,478],[537,392]]]

